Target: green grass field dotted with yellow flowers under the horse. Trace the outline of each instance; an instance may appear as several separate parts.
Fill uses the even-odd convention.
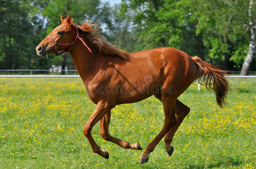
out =
[[[92,135],[110,154],[91,150],[83,126],[95,105],[79,92],[80,78],[0,78],[0,168],[10,169],[185,169],[256,166],[256,79],[230,79],[226,108],[212,92],[192,85],[179,100],[191,108],[172,142],[171,157],[164,141],[139,164],[143,151],[122,149],[104,141],[99,123]],[[112,110],[110,134],[142,148],[162,129],[162,104],[154,97]]]

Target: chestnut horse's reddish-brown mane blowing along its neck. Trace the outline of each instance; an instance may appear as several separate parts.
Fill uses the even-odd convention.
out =
[[[86,21],[82,23],[81,26],[78,26],[78,28],[82,31],[83,35],[85,35],[90,42],[99,49],[99,55],[103,55],[106,58],[128,58],[129,55],[125,50],[120,50],[116,48],[115,45],[111,45],[103,40],[102,35],[98,32],[100,29],[98,24],[92,24],[90,21]]]

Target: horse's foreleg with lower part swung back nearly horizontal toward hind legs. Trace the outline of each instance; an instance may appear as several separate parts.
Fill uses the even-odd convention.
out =
[[[111,116],[111,110],[108,111],[107,114],[105,114],[105,116],[100,120],[100,134],[103,137],[103,139],[107,141],[111,141],[117,144],[118,146],[123,147],[124,149],[142,150],[141,145],[138,144],[138,142],[131,144],[128,141],[123,141],[113,136],[110,136],[108,132],[108,126],[110,124],[110,116]]]

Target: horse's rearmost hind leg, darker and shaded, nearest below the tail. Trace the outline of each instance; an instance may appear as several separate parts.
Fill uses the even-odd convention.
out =
[[[177,123],[175,126],[173,126],[170,131],[168,131],[167,135],[165,136],[165,149],[169,156],[173,153],[173,147],[171,146],[171,142],[173,139],[173,136],[175,132],[178,130],[180,124],[185,119],[185,117],[188,115],[190,111],[190,108],[186,106],[185,104],[181,103],[178,99],[175,104],[175,114],[176,114],[176,120]]]

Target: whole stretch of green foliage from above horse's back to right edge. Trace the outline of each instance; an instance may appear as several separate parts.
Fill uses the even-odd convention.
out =
[[[140,35],[138,50],[170,46],[225,69],[240,70],[251,36],[245,27],[249,22],[249,0],[235,1],[238,15],[224,2],[233,3],[232,0],[123,0],[122,12],[136,10],[133,22]]]

